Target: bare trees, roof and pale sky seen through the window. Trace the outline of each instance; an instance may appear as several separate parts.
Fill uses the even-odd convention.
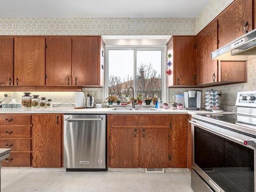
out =
[[[161,99],[161,59],[161,50],[109,50],[109,96],[127,102],[130,97],[126,98],[125,93],[134,87],[143,99]]]

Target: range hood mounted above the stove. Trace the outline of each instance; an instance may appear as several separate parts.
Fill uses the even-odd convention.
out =
[[[211,59],[247,61],[256,58],[256,29],[211,53]]]

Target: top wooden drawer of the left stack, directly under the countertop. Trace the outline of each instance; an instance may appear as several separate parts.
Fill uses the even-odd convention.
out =
[[[0,115],[0,124],[31,124],[31,115]]]

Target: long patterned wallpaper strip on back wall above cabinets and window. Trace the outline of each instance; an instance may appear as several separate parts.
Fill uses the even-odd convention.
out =
[[[196,18],[0,18],[0,35],[194,35]]]

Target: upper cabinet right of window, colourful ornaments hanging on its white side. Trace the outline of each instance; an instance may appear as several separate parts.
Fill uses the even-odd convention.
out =
[[[167,75],[167,86],[196,85],[196,36],[173,36],[167,43],[167,54],[172,62]],[[167,60],[168,61],[168,60]]]

